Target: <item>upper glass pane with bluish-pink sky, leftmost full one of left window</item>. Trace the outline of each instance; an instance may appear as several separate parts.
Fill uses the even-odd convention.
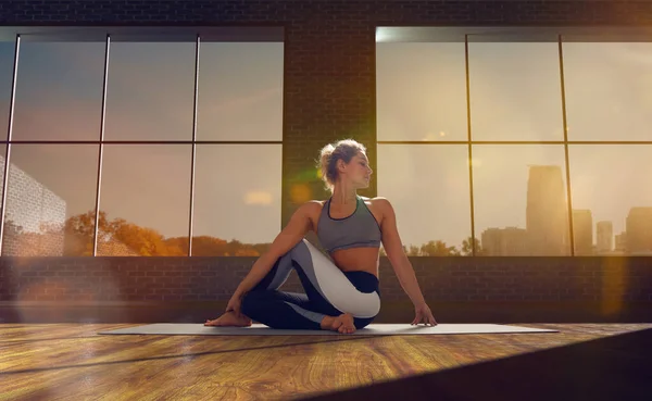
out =
[[[99,140],[105,43],[21,41],[12,140]]]

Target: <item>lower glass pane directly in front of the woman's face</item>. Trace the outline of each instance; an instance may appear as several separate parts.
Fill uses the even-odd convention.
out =
[[[378,146],[378,195],[392,203],[409,255],[471,254],[466,146]]]

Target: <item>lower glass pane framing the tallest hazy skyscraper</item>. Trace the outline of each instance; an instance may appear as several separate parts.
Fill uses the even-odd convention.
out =
[[[569,255],[562,146],[474,146],[476,238],[493,256]]]

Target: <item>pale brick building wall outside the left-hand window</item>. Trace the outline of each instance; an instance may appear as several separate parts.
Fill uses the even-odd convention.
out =
[[[0,156],[0,172],[4,156]],[[29,174],[10,164],[3,255],[63,255],[66,202]]]

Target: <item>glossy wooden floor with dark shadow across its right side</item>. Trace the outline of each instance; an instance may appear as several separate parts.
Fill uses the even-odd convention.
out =
[[[0,324],[0,400],[630,400],[652,324],[555,334],[99,336],[135,324]],[[645,396],[645,397],[647,397]]]

